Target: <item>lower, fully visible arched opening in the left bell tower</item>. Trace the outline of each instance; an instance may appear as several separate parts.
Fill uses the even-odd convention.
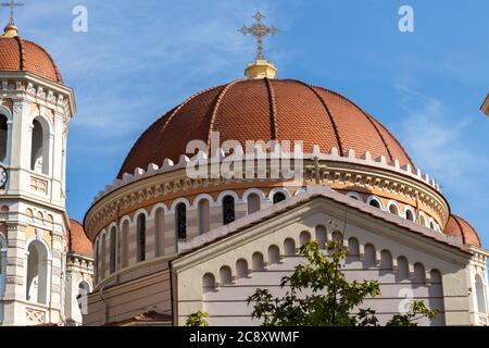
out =
[[[39,240],[34,240],[27,249],[26,300],[47,303],[48,300],[48,250]]]

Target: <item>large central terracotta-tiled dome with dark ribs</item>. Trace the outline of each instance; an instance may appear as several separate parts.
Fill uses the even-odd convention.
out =
[[[127,156],[118,177],[136,167],[177,162],[190,140],[303,140],[341,156],[369,151],[413,165],[399,141],[378,121],[337,92],[292,79],[246,79],[198,92],[151,125]]]

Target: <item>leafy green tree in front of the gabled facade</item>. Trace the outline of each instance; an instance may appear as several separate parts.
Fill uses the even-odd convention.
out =
[[[339,241],[327,244],[327,254],[316,241],[309,241],[300,249],[306,262],[296,266],[290,276],[283,277],[280,287],[286,295],[274,298],[267,289],[256,289],[248,298],[254,303],[253,319],[263,319],[265,326],[377,326],[375,311],[359,308],[363,300],[380,295],[378,282],[348,282],[342,261],[348,250]],[[356,308],[358,313],[351,314]],[[416,326],[416,321],[434,319],[438,311],[428,310],[423,301],[413,301],[411,311],[394,315],[389,326]]]

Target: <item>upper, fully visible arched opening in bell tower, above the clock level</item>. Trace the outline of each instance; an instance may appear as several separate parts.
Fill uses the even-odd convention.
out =
[[[30,170],[49,174],[49,132],[43,120],[36,119],[33,122]]]

